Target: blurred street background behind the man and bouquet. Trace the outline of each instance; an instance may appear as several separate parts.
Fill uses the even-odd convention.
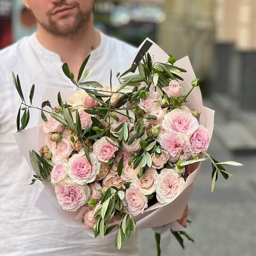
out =
[[[173,237],[165,255],[256,255],[256,1],[97,0],[95,26],[135,46],[149,37],[177,59],[189,56],[205,106],[215,109],[210,154],[244,164],[219,177],[212,194],[209,163],[189,201],[182,250]],[[36,29],[21,0],[0,0],[0,49]],[[154,232],[139,231],[140,255],[156,255]]]

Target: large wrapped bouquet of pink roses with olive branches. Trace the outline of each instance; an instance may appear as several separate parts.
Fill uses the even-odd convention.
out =
[[[42,103],[43,124],[34,130],[22,131],[34,108],[35,86],[28,105],[14,76],[22,100],[17,117],[22,132],[16,139],[24,147],[26,134],[38,138],[33,147],[39,152],[29,152],[36,172],[31,183],[41,180],[47,192],[37,206],[66,225],[85,225],[95,237],[117,230],[114,244],[119,249],[136,226],[159,227],[181,217],[199,162],[211,161],[212,190],[218,173],[225,179],[230,175],[224,164],[240,164],[218,162],[207,153],[213,111],[202,105],[199,82],[187,58],[175,63],[146,39],[131,68],[117,74],[120,86],[115,87],[112,74],[109,86],[87,81],[92,72],[85,69],[89,57],[76,81],[67,63],[63,65],[79,90],[59,92],[58,97],[54,90],[46,92],[58,103]]]

